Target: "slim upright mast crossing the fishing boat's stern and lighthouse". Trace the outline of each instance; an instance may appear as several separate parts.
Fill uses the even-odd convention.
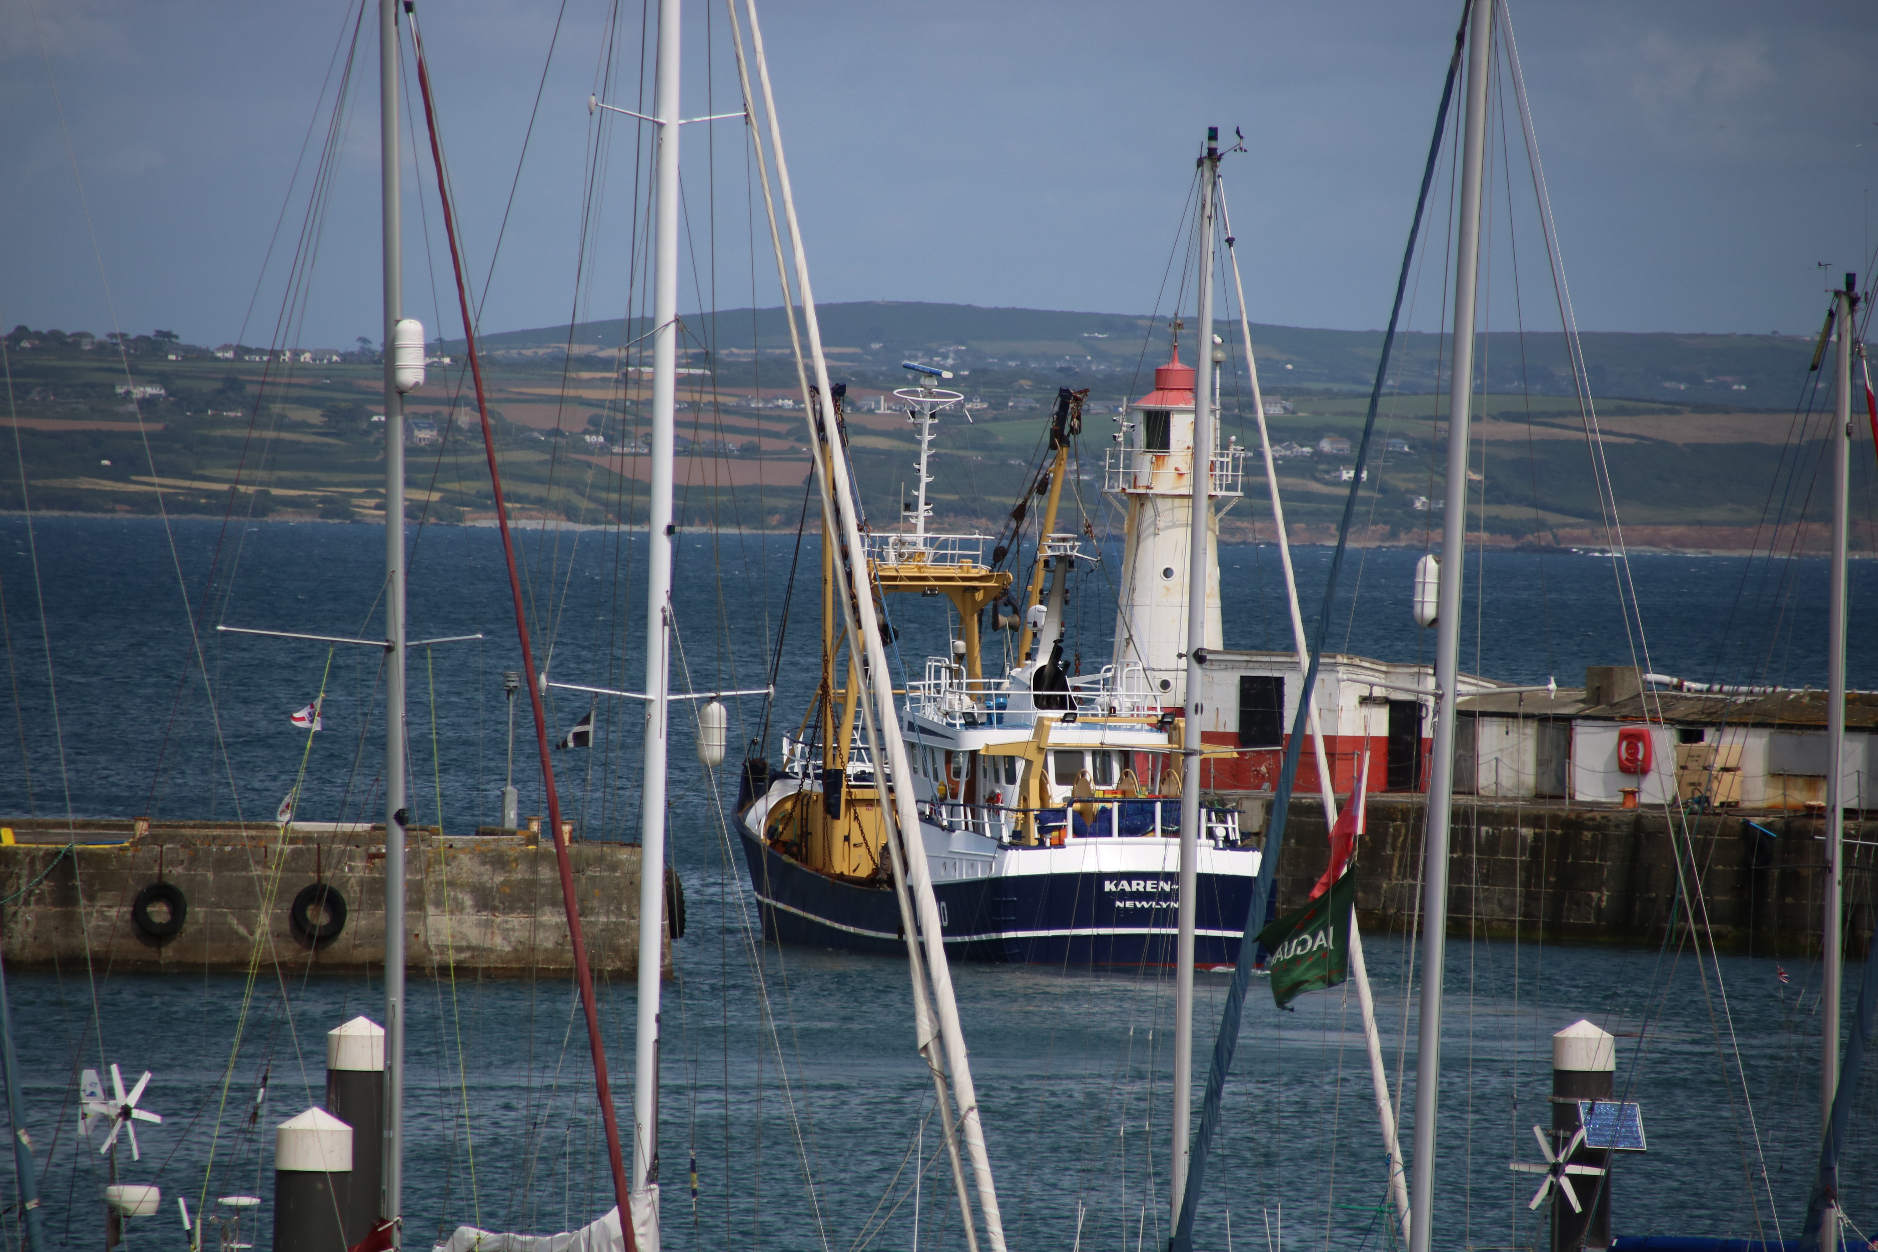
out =
[[[1219,182],[1219,128],[1206,128],[1200,158],[1200,317],[1193,372],[1193,516],[1187,531],[1187,708],[1179,790],[1179,937],[1174,940],[1174,1184],[1168,1220],[1179,1222],[1187,1190],[1187,1121],[1193,1115],[1193,927],[1200,893],[1200,657],[1206,651],[1208,524],[1213,490],[1213,191]],[[1241,954],[1243,955],[1243,954]]]

